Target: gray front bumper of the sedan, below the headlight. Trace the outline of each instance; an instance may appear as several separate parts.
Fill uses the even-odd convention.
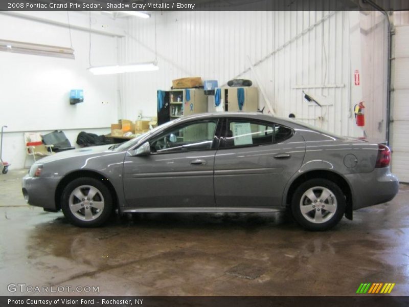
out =
[[[43,207],[46,210],[57,210],[55,190],[61,177],[30,177],[22,178],[22,194],[26,202],[32,206]]]

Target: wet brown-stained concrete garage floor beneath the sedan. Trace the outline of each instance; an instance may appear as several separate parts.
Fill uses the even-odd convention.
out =
[[[25,205],[26,172],[0,176],[0,295],[28,295],[7,291],[26,283],[99,286],[96,295],[338,296],[361,282],[395,282],[392,295],[409,295],[405,185],[322,233],[283,214],[139,214],[81,229]]]

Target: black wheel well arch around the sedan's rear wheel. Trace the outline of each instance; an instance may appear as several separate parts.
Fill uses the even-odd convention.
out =
[[[349,220],[352,220],[351,188],[349,187],[347,181],[343,177],[339,176],[337,173],[334,173],[328,170],[312,170],[312,171],[302,174],[296,180],[294,180],[287,192],[287,198],[286,198],[287,206],[291,204],[292,196],[294,192],[296,191],[297,187],[303,182],[305,182],[306,180],[315,179],[315,178],[328,179],[336,183],[339,186],[339,188],[344,192],[344,195],[346,198],[347,207],[345,208],[345,216],[349,218]]]

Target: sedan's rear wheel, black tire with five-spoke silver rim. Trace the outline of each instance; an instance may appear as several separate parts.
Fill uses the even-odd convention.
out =
[[[322,189],[323,188],[323,189]],[[313,192],[311,201],[304,193]],[[320,194],[321,191],[321,194]],[[321,202],[321,195],[329,193],[330,196]],[[325,198],[326,195],[323,196]],[[335,205],[334,205],[335,204]],[[304,207],[305,206],[305,207]],[[301,211],[301,208],[305,208]],[[310,208],[314,207],[311,211]],[[291,213],[294,220],[302,227],[311,231],[328,230],[342,219],[345,213],[346,201],[343,191],[334,182],[327,179],[310,179],[302,183],[294,192],[291,200]],[[331,212],[329,211],[331,208]],[[321,214],[320,214],[321,212]]]

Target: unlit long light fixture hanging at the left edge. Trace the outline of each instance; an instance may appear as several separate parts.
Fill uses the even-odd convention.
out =
[[[0,51],[74,59],[74,49],[0,39]]]

